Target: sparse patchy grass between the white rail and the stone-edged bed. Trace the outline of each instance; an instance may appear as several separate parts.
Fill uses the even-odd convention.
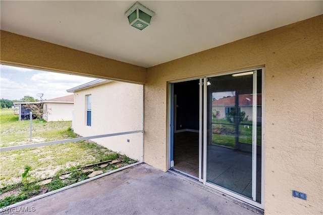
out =
[[[34,179],[53,177],[59,170],[98,163],[120,155],[92,141],[78,141],[57,145],[1,152],[0,188],[21,182],[24,166],[32,167]]]

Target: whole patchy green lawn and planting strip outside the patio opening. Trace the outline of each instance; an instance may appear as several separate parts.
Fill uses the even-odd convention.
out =
[[[29,121],[18,121],[18,116],[14,115],[12,110],[0,110],[0,147],[77,137],[77,134],[71,130],[71,121],[42,122],[33,120],[33,138],[37,140],[29,141],[29,123]],[[88,174],[77,172],[77,169],[85,165],[117,158],[122,160],[118,167],[116,167],[117,165],[109,165],[104,169],[100,168],[103,172],[109,172],[135,163],[135,160],[131,160],[125,155],[111,151],[92,141],[69,142],[0,153],[0,205],[2,206],[32,197],[41,192],[41,189],[59,189],[71,183],[84,180]],[[44,188],[31,183],[35,186],[24,191],[25,186],[22,184],[22,174],[26,165],[31,167],[29,171],[31,182],[52,177],[56,178],[48,185],[49,187]],[[76,174],[73,180],[64,182],[58,178],[58,173],[70,170],[73,170],[73,174]],[[9,197],[1,196],[1,193],[12,190],[17,191],[17,193]]]

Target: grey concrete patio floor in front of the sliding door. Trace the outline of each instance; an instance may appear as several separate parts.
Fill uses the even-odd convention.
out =
[[[198,182],[140,164],[20,205],[24,214],[259,214]]]

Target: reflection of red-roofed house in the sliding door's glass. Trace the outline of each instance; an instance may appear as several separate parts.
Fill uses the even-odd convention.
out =
[[[212,94],[216,95],[217,93]],[[248,121],[252,121],[252,102],[252,94],[240,94],[238,96],[239,112],[245,112],[245,118],[248,118]],[[235,106],[235,95],[220,98],[212,102],[212,113],[218,111],[218,119],[226,119],[226,116],[235,110]],[[259,122],[261,120],[261,94],[257,95],[257,118],[257,122]]]

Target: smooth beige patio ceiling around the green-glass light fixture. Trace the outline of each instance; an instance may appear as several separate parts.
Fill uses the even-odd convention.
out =
[[[135,1],[1,1],[1,29],[151,67],[322,14],[322,1],[141,1],[151,26],[129,26]]]

